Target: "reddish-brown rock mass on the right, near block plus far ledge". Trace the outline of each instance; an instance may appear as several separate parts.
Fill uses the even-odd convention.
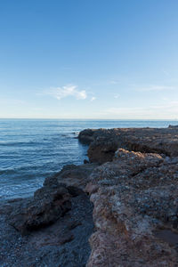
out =
[[[177,127],[85,130],[78,137],[90,142],[90,162],[102,164],[85,188],[96,230],[87,267],[178,266]]]

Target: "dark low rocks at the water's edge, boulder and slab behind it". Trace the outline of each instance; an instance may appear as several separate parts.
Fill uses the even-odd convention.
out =
[[[21,233],[36,231],[55,223],[71,208],[71,198],[83,193],[96,164],[64,166],[61,172],[47,177],[34,197],[17,203],[10,211],[9,223]]]

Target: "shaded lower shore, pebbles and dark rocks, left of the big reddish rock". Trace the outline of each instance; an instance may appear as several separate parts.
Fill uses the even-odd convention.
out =
[[[0,266],[85,266],[93,204],[83,189],[96,166],[64,166],[33,198],[0,205]]]

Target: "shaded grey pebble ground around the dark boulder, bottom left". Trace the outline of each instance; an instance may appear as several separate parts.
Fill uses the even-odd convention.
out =
[[[21,236],[7,223],[7,210],[25,199],[0,205],[1,267],[84,267],[91,253],[93,205],[86,194],[70,199],[71,209],[55,223]],[[12,205],[13,204],[13,205]]]

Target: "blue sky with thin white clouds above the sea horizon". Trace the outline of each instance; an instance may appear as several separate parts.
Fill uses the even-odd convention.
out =
[[[0,117],[178,118],[178,1],[0,1]]]

